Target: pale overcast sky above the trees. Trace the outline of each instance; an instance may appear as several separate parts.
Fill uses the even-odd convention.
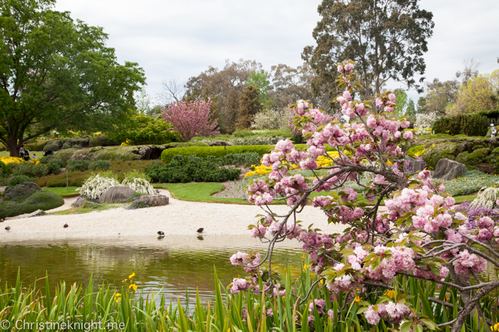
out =
[[[226,59],[257,60],[264,69],[302,64],[319,21],[321,0],[58,0],[56,9],[73,19],[102,26],[120,63],[144,68],[148,94],[165,78],[185,82]],[[426,77],[453,78],[464,58],[475,58],[480,73],[499,68],[498,0],[421,0],[433,12]],[[393,83],[393,87],[401,86]],[[409,94],[417,98],[415,92]]]

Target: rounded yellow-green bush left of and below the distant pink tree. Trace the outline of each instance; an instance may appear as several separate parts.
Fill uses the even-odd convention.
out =
[[[144,114],[137,113],[130,117],[127,122],[120,124],[106,136],[112,141],[129,141],[133,145],[143,144],[165,144],[172,141],[180,141],[178,132],[173,132],[171,124],[165,122],[162,117],[154,119]]]

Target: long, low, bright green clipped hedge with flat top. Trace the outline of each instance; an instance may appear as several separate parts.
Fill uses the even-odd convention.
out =
[[[245,152],[256,152],[260,156],[268,154],[274,149],[274,145],[237,145],[237,146],[190,146],[186,148],[174,148],[163,151],[161,160],[168,164],[173,156],[192,156],[196,155],[200,158],[207,156],[222,157],[227,154],[244,154]],[[296,144],[297,149],[306,149],[306,144]],[[326,146],[327,151],[331,151],[329,146]]]

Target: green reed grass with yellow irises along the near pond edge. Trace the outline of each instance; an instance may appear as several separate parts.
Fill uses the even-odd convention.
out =
[[[38,279],[30,286],[24,286],[20,280],[18,272],[16,284],[0,287],[0,324],[8,321],[10,325],[10,328],[1,326],[4,330],[49,331],[56,329],[53,328],[56,323],[64,322],[66,328],[59,328],[59,331],[384,332],[391,331],[391,328],[399,331],[398,324],[383,320],[378,326],[370,326],[364,315],[358,314],[362,301],[373,301],[374,297],[383,294],[384,289],[367,287],[359,294],[331,295],[319,282],[307,298],[309,289],[317,281],[317,276],[308,269],[302,269],[297,280],[293,281],[290,274],[280,280],[286,288],[286,294],[282,297],[269,298],[265,294],[252,292],[230,294],[224,285],[216,282],[213,301],[202,303],[199,294],[196,294],[193,304],[188,298],[183,304],[180,300],[166,301],[162,292],[153,293],[152,290],[143,290],[145,293],[135,295],[127,284],[121,289],[114,289],[106,285],[94,287],[92,280],[86,288],[61,282],[52,291],[48,277]],[[259,282],[263,287],[261,280]],[[463,306],[456,291],[445,286],[438,289],[433,282],[398,277],[392,286],[415,295],[410,300],[412,305],[421,307],[421,314],[435,324],[452,321],[458,313],[458,306]],[[497,291],[494,291],[485,296],[480,304],[485,317],[494,323],[498,318],[495,311],[497,296]],[[355,301],[355,297],[359,301]],[[453,308],[428,300],[432,298],[447,300]],[[315,306],[309,312],[309,304],[314,299],[331,299],[326,301],[324,313],[332,310],[334,318],[319,314]],[[272,309],[272,315],[269,315],[269,309]],[[309,316],[314,317],[311,323]],[[14,328],[16,322],[20,328]],[[440,331],[451,331],[451,326]],[[490,328],[475,314],[474,318],[466,321],[461,331],[490,331]]]

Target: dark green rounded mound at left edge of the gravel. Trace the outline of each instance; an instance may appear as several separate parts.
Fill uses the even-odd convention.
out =
[[[0,218],[15,217],[36,210],[51,210],[64,204],[61,196],[49,191],[37,191],[23,201],[4,200],[0,203]]]

